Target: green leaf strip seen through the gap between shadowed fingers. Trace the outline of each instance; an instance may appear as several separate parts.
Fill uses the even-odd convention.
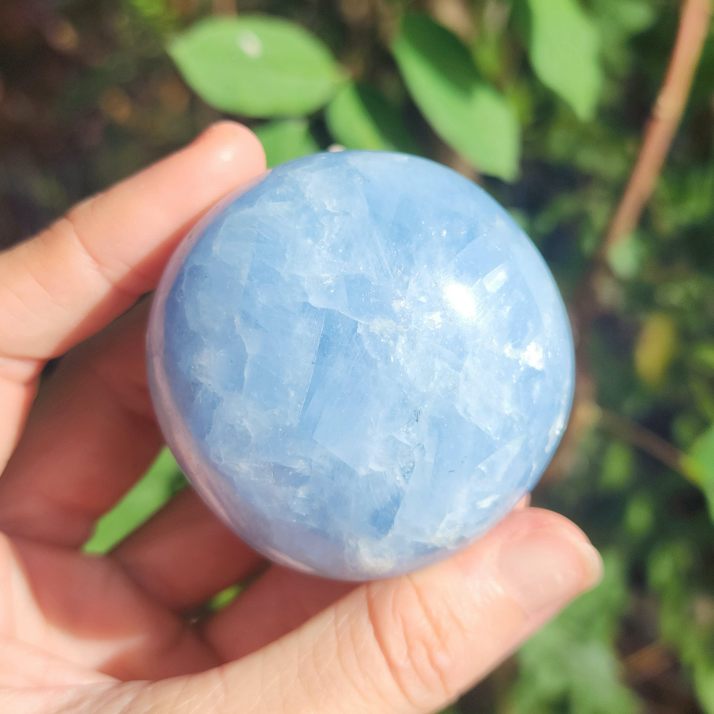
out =
[[[186,478],[169,448],[161,451],[144,478],[96,524],[86,553],[106,553],[186,486]]]

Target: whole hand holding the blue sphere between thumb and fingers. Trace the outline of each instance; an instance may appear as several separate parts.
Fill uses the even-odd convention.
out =
[[[264,166],[256,138],[222,122],[0,254],[2,712],[426,713],[599,578],[578,528],[523,506],[391,580],[271,565],[194,622],[263,561],[190,489],[106,557],[82,552],[162,444],[148,302],[131,306],[198,216]],[[30,410],[46,360],[68,350]]]

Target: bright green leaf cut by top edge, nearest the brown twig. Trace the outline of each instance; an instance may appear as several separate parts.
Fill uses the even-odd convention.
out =
[[[579,119],[593,119],[603,84],[597,26],[577,0],[528,0],[528,5],[535,74]]]

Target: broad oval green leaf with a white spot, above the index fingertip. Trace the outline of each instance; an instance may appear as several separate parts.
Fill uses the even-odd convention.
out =
[[[345,79],[321,41],[276,17],[208,18],[171,41],[169,54],[201,99],[243,116],[310,114]]]

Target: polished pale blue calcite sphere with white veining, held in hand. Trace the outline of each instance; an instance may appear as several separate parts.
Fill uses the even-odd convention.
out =
[[[268,558],[346,580],[493,526],[573,391],[533,243],[471,181],[401,154],[309,156],[223,201],[169,263],[148,351],[203,498]]]

